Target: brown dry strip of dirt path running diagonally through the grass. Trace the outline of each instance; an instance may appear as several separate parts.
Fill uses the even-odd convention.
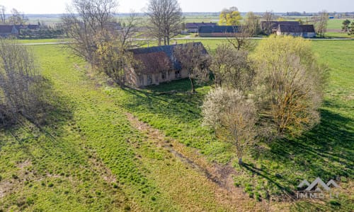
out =
[[[142,131],[149,140],[154,141],[154,144],[159,148],[165,148],[173,153],[176,158],[179,158],[185,165],[192,167],[194,170],[204,175],[208,181],[214,184],[216,199],[225,205],[238,205],[238,208],[243,208],[242,211],[268,211],[265,204],[257,203],[254,199],[250,199],[242,192],[241,188],[234,186],[233,176],[237,175],[236,170],[231,165],[217,165],[210,163],[193,148],[179,143],[178,141],[166,137],[158,129],[152,128],[132,114],[127,113],[127,119],[132,126]]]

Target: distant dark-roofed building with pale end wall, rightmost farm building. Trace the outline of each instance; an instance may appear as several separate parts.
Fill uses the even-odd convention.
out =
[[[314,25],[279,25],[277,35],[292,35],[302,37],[316,37]]]

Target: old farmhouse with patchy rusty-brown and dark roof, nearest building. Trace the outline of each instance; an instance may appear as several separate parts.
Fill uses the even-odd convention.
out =
[[[202,45],[202,43],[195,42],[194,45]],[[131,49],[134,59],[139,64],[126,71],[125,80],[127,83],[135,87],[143,87],[188,78],[188,71],[182,69],[181,62],[173,56],[177,46]]]

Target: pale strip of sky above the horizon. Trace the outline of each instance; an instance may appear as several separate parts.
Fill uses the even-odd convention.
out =
[[[64,13],[71,0],[0,0],[9,13],[16,8],[26,14]],[[118,12],[143,12],[148,0],[118,0]],[[218,12],[236,6],[241,12],[336,12],[354,11],[353,0],[178,0],[183,12]]]

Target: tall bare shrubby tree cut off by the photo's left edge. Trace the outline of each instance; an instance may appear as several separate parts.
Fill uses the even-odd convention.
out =
[[[17,121],[20,116],[39,122],[42,77],[33,54],[13,40],[0,39],[0,121]]]

